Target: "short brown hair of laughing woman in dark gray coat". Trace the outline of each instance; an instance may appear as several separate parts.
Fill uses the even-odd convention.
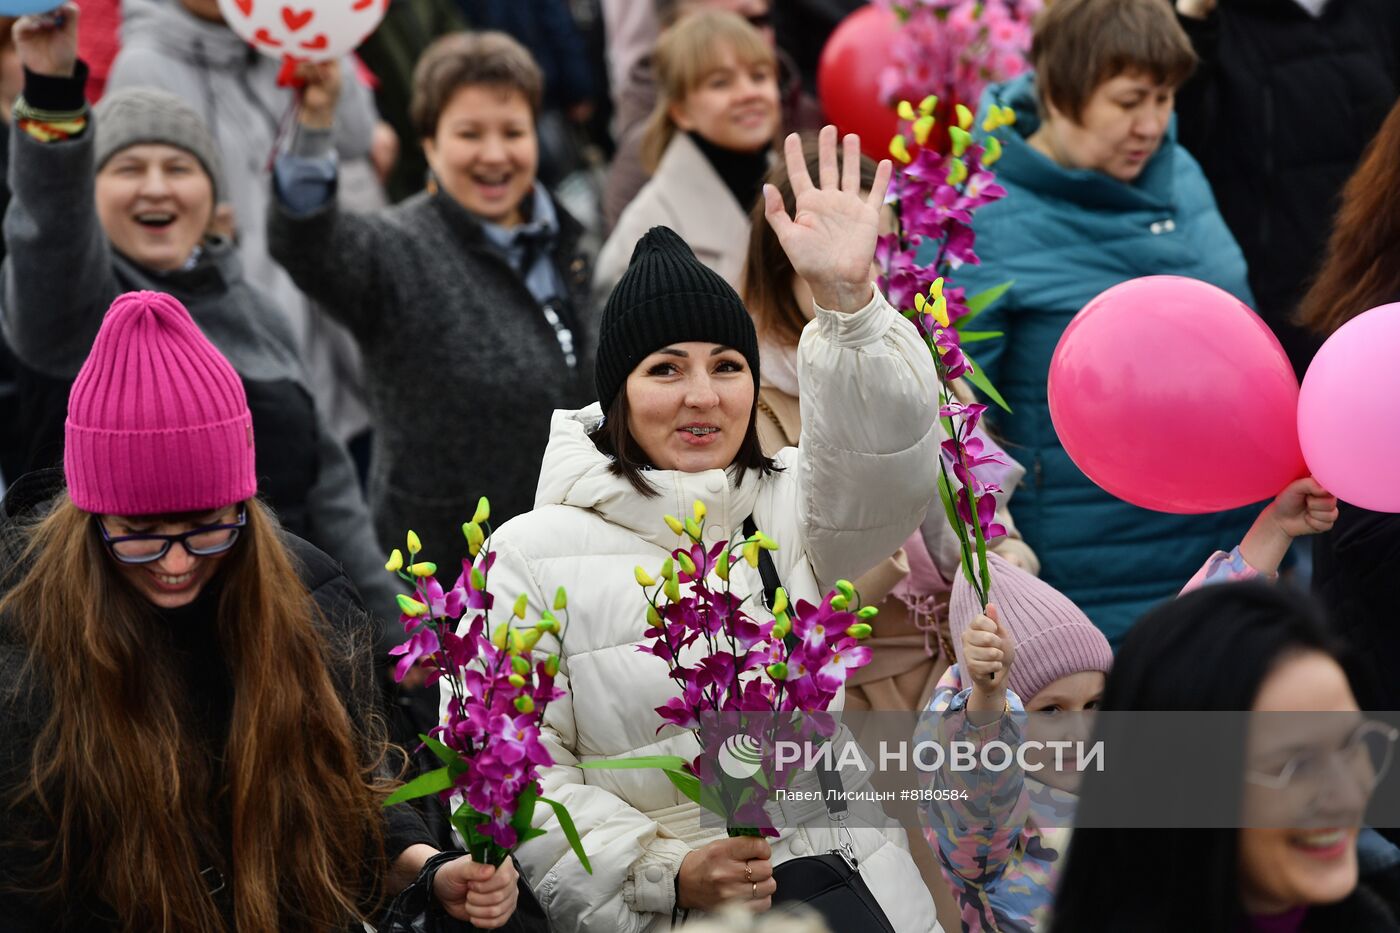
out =
[[[430,45],[413,69],[409,119],[419,139],[437,136],[452,95],[472,85],[518,91],[533,116],[545,99],[545,74],[524,45],[504,32],[449,32]]]

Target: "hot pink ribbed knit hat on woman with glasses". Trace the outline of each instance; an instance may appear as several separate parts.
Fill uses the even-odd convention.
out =
[[[112,303],[64,429],[63,472],[84,511],[203,511],[258,493],[244,384],[168,294]]]

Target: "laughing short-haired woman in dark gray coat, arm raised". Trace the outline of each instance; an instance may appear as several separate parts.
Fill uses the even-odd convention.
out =
[[[377,214],[332,199],[339,69],[304,74],[272,254],[363,350],[381,539],[449,548],[483,492],[493,517],[529,510],[550,415],[587,401],[580,227],[535,177],[540,71],[498,32],[434,43],[413,101],[433,184]]]

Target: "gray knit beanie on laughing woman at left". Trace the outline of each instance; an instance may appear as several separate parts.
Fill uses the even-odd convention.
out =
[[[99,171],[129,146],[162,143],[199,160],[214,185],[216,205],[227,196],[218,144],[203,118],[174,94],[148,87],[112,91],[92,108],[92,116],[97,122],[94,157]]]

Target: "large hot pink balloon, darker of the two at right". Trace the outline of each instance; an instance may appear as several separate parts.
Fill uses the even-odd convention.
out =
[[[1147,276],[1089,301],[1060,338],[1049,394],[1075,465],[1144,509],[1238,509],[1306,475],[1278,338],[1204,282]]]

